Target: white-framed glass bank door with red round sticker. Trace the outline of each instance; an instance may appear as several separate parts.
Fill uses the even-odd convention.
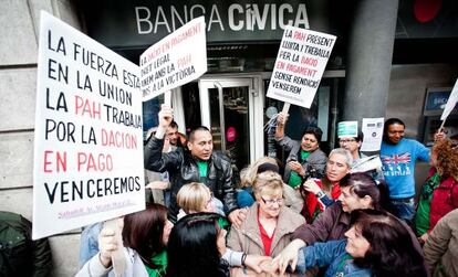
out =
[[[261,95],[259,81],[251,77],[202,78],[199,92],[201,122],[214,135],[214,149],[225,152],[238,170],[243,169],[256,159],[259,137],[256,134],[262,137],[262,122],[261,129],[254,126],[256,102]]]

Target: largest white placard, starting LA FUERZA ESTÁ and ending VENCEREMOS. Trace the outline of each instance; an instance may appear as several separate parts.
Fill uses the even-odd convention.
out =
[[[33,238],[145,209],[139,67],[41,13]]]

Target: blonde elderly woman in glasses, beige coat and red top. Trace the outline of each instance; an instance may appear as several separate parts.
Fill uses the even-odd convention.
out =
[[[231,228],[228,246],[247,254],[273,257],[290,243],[294,230],[305,221],[283,205],[283,181],[280,174],[273,171],[258,174],[253,192],[256,203],[248,211],[241,228]]]

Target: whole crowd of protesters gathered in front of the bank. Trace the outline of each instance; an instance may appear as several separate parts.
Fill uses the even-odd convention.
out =
[[[430,151],[391,118],[379,156],[360,152],[361,132],[326,156],[320,128],[295,141],[280,113],[288,158],[263,157],[236,182],[210,130],[186,138],[173,117],[163,105],[145,142],[146,210],[85,228],[77,276],[458,276],[458,147],[443,129]],[[417,159],[431,166],[418,201]]]

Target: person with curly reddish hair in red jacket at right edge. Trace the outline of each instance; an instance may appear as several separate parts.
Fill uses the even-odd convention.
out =
[[[428,179],[421,188],[415,215],[416,232],[421,243],[437,222],[458,207],[458,148],[449,139],[437,140],[430,155]]]

